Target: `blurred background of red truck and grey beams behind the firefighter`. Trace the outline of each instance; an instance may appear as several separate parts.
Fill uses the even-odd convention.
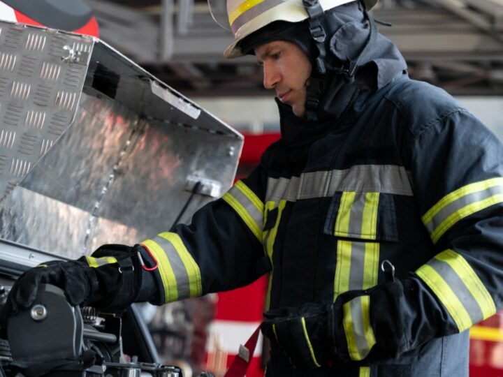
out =
[[[0,16],[42,23],[16,8],[21,3],[0,1]],[[224,59],[233,37],[212,20],[205,0],[85,3],[94,17],[80,32],[99,35],[245,134],[238,177],[279,138],[277,108],[262,87],[261,68],[253,57]],[[412,78],[449,91],[503,138],[503,0],[380,0],[373,15],[393,24],[379,29],[398,45]],[[222,376],[259,325],[264,293],[261,279],[230,293],[141,309],[162,362],[184,365],[187,376],[201,369]],[[470,336],[470,376],[503,376],[503,314],[476,325]],[[266,348],[260,341],[247,376],[263,375]]]

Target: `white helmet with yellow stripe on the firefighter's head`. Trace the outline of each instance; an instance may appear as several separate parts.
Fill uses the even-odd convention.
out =
[[[355,0],[319,0],[323,11],[351,3]],[[214,20],[222,27],[231,29],[234,42],[227,47],[224,57],[231,59],[243,55],[239,43],[254,31],[275,21],[301,22],[309,18],[305,3],[317,1],[302,0],[227,0],[227,20],[222,17],[221,1],[208,0]],[[377,0],[364,0],[367,10],[377,3]],[[220,7],[219,7],[220,6]],[[316,4],[317,6],[317,4]]]

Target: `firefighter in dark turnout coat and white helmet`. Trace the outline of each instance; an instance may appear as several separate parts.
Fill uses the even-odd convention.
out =
[[[266,376],[468,376],[467,330],[502,309],[502,145],[409,79],[373,5],[228,0],[225,55],[263,66],[282,139],[190,225],[29,270],[4,318],[40,283],[117,310],[268,272]]]

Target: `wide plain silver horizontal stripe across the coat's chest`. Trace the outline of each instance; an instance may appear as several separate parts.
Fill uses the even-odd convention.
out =
[[[412,196],[407,171],[398,165],[355,165],[346,170],[309,172],[300,177],[269,178],[266,201],[326,198],[338,191]]]

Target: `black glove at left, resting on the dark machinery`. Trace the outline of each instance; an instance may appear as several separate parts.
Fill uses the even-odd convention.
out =
[[[136,301],[142,288],[143,270],[138,252],[144,252],[143,246],[103,245],[92,257],[67,262],[55,260],[29,269],[10,290],[0,315],[2,327],[20,308],[33,304],[41,284],[53,284],[64,290],[72,305],[95,306],[112,312],[126,309]]]

